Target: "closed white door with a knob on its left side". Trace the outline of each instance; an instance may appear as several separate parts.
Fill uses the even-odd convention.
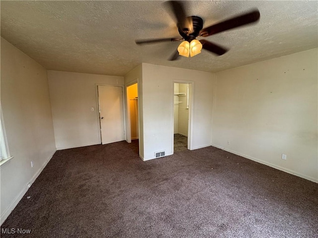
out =
[[[125,139],[123,89],[116,86],[98,86],[101,143]]]

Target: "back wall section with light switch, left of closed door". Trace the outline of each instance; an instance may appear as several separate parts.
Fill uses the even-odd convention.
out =
[[[49,70],[48,78],[57,149],[99,144],[96,84],[124,85],[124,77]]]

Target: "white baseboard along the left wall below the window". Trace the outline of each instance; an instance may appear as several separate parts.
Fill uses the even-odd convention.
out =
[[[43,171],[43,169],[45,168],[45,166],[49,163],[49,161],[52,159],[54,153],[56,152],[56,149],[54,150],[54,152],[49,156],[49,158],[44,162],[44,164],[41,166],[41,168],[35,173],[35,175],[32,177],[32,179],[28,182],[30,185],[32,185],[32,183],[35,181],[36,178],[38,178],[38,176],[41,174],[41,172]],[[13,199],[13,201],[11,202],[11,204],[7,207],[7,209],[5,209],[5,211],[1,214],[0,217],[0,225],[2,225],[2,223],[5,221],[5,219],[7,219],[7,217],[10,215],[10,213],[13,211],[13,209],[16,207],[16,205],[19,203],[19,201],[22,199],[22,197],[24,196],[24,194],[27,192],[28,188],[28,183],[25,184],[24,188],[22,189],[22,191],[20,191],[20,193]]]

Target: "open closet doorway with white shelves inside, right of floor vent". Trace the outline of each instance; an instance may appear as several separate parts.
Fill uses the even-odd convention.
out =
[[[188,146],[189,84],[174,83],[173,96],[173,151],[183,151]]]

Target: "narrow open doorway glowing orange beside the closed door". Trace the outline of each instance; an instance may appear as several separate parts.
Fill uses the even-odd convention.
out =
[[[127,86],[128,124],[127,142],[137,143],[139,139],[138,84]]]

